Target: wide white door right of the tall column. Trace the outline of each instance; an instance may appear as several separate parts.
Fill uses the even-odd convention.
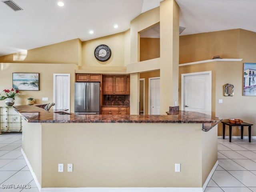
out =
[[[182,110],[211,115],[211,71],[182,74]]]

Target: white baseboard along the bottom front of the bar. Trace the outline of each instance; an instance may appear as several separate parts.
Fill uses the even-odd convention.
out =
[[[200,187],[85,187],[42,188],[41,192],[203,192]]]

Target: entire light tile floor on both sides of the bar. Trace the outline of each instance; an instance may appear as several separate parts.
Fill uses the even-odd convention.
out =
[[[0,192],[39,192],[20,151],[22,134],[0,135]],[[256,140],[218,139],[219,165],[204,192],[256,192]],[[6,189],[12,184],[12,188]],[[26,185],[30,189],[19,189]]]

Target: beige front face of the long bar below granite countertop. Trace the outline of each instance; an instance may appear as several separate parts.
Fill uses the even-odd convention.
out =
[[[202,187],[203,169],[208,171],[208,166],[212,166],[208,161],[202,164],[207,159],[203,157],[207,153],[203,153],[202,145],[210,144],[202,142],[201,124],[42,123],[41,126],[34,126],[34,131],[36,134],[42,131],[42,164],[29,155],[35,148],[41,151],[40,140],[26,150],[26,155],[33,170],[42,166],[42,188]],[[24,147],[31,144],[27,139],[29,134],[24,132]],[[212,134],[216,138],[216,132]],[[216,156],[217,150],[213,153]],[[58,172],[58,163],[64,163],[64,172]],[[67,172],[68,163],[73,163],[73,172]],[[175,163],[181,164],[181,172],[174,172]]]

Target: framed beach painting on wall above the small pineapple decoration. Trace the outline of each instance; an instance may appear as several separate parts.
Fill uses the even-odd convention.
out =
[[[12,73],[12,87],[17,90],[39,91],[39,73]]]

